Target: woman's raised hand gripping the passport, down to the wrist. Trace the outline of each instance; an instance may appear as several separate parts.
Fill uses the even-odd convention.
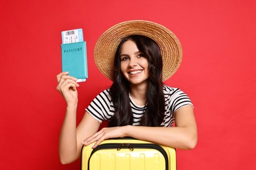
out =
[[[62,72],[57,75],[58,86],[56,89],[64,97],[67,105],[77,105],[77,78],[69,76],[68,72]]]

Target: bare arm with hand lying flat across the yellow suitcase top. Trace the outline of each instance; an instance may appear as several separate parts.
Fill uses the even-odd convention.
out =
[[[198,140],[198,133],[192,106],[187,105],[178,109],[175,115],[175,127],[123,126],[103,128],[85,140],[83,144],[89,145],[96,141],[93,146],[95,148],[104,139],[129,136],[173,148],[194,148]]]

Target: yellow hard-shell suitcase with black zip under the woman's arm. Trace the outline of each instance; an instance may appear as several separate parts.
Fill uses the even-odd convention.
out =
[[[108,139],[83,146],[82,170],[175,170],[176,150],[137,139]]]

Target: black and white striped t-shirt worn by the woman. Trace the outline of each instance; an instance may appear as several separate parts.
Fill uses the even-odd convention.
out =
[[[169,127],[173,125],[175,120],[175,111],[180,109],[185,105],[192,105],[188,95],[182,92],[179,88],[171,88],[169,86],[163,86],[163,94],[165,97],[165,118],[161,123],[161,126]],[[130,104],[131,110],[133,112],[133,126],[140,125],[140,118],[142,118],[144,112],[146,111],[145,106],[138,106],[135,104],[131,96]],[[103,120],[110,119],[114,113],[114,105],[112,103],[110,89],[106,89],[99,93],[95,99],[87,107],[87,112],[91,114],[100,123]]]

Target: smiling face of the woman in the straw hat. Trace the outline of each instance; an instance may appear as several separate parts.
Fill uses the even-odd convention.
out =
[[[135,42],[128,40],[121,46],[121,72],[135,85],[146,83],[149,77],[148,59],[144,57]]]

